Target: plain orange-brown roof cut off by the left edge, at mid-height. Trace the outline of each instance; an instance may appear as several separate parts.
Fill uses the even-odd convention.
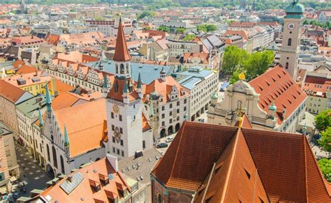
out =
[[[9,101],[15,103],[22,95],[24,94],[24,90],[13,86],[6,81],[0,80],[0,95],[8,99]]]

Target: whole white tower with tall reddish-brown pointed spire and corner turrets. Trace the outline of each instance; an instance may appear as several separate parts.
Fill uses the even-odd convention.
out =
[[[115,54],[115,81],[106,98],[108,151],[119,159],[142,150],[142,94],[131,76],[131,56],[128,54],[122,20],[119,19]]]

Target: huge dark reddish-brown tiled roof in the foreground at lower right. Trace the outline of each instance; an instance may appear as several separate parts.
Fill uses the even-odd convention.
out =
[[[301,134],[184,122],[152,175],[210,202],[331,200],[330,184]]]

